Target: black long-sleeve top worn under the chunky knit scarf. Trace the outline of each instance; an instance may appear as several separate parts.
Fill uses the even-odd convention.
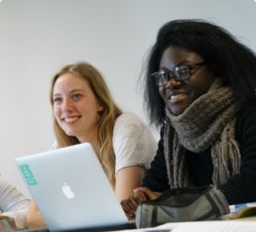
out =
[[[241,153],[240,174],[231,176],[218,188],[229,204],[256,201],[256,105],[246,106],[237,113],[235,139]],[[186,160],[195,185],[212,183],[210,148],[198,154],[187,151]],[[143,185],[159,192],[170,188],[164,156],[163,129],[157,155],[144,177]]]

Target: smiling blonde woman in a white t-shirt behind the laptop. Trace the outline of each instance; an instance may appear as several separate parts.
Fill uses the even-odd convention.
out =
[[[51,102],[55,149],[90,143],[117,198],[131,195],[156,152],[155,140],[141,119],[119,109],[101,73],[86,62],[65,65],[54,76]],[[35,203],[28,223],[44,224]]]

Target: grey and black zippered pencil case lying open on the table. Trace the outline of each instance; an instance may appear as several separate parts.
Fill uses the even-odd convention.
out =
[[[137,228],[145,228],[167,222],[214,220],[227,213],[228,202],[213,185],[175,188],[142,202],[136,210],[135,223]]]

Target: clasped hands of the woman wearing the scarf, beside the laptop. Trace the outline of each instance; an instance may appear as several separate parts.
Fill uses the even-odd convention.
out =
[[[159,192],[152,191],[147,187],[138,187],[134,189],[132,196],[121,201],[121,205],[127,217],[129,219],[134,219],[135,211],[141,202],[156,199],[159,195]]]

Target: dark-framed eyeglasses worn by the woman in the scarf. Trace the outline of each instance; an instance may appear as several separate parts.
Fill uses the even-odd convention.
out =
[[[206,65],[206,62],[197,62],[192,64],[181,64],[175,66],[172,70],[168,68],[162,68],[151,74],[155,78],[158,86],[166,85],[170,79],[174,78],[178,81],[184,81],[191,78],[192,70],[202,65]]]

